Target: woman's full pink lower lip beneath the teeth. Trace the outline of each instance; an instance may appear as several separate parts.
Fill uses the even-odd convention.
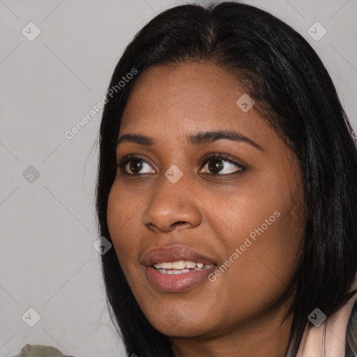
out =
[[[180,291],[197,287],[204,281],[208,281],[208,275],[215,271],[216,266],[204,271],[189,271],[182,274],[162,274],[153,266],[146,267],[146,278],[153,286],[161,292],[177,293]]]

